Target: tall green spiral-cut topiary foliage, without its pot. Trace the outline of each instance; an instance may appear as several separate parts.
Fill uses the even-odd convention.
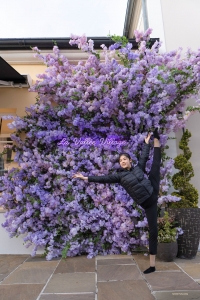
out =
[[[180,197],[178,202],[170,203],[172,208],[189,208],[198,207],[198,191],[189,183],[190,179],[194,176],[194,170],[189,159],[192,152],[188,147],[189,138],[191,133],[186,129],[179,143],[179,148],[183,150],[183,154],[179,154],[175,158],[174,167],[180,171],[172,176],[172,183],[177,190],[172,195]]]

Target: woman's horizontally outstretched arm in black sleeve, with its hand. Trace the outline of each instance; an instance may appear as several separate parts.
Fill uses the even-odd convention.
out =
[[[108,174],[104,176],[88,176],[85,177],[81,173],[76,173],[72,176],[72,178],[80,178],[83,180],[87,180],[88,182],[97,182],[97,183],[120,183],[120,175],[119,174]]]

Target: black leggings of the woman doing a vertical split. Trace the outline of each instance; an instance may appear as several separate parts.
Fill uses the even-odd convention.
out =
[[[152,195],[145,200],[141,206],[144,208],[148,225],[149,225],[149,253],[157,254],[157,239],[158,239],[158,225],[157,225],[157,200],[160,185],[160,161],[161,150],[160,147],[154,147],[154,156],[151,171],[149,173],[149,180],[153,186]]]

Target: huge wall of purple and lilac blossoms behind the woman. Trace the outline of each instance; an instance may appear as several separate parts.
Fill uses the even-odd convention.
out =
[[[32,255],[42,246],[47,259],[61,253],[93,257],[131,253],[148,243],[144,211],[118,184],[78,181],[72,174],[115,172],[122,150],[136,164],[147,131],[159,128],[164,149],[167,134],[185,125],[178,113],[186,99],[198,94],[200,52],[188,50],[185,59],[180,49],[159,53],[160,42],[149,48],[150,33],[150,29],[135,32],[139,43],[135,52],[125,39],[110,48],[102,45],[99,53],[93,41],[72,36],[70,44],[89,53],[86,62],[77,65],[57,46],[47,55],[34,48],[47,69],[30,89],[38,93],[36,103],[9,126],[16,129],[12,140],[20,168],[4,176],[0,198],[7,209],[3,227],[11,237],[26,234],[26,246],[35,245]],[[118,147],[76,143],[75,138],[88,137],[114,137],[127,143]],[[63,138],[68,143],[58,145]],[[153,144],[147,173],[152,153]]]

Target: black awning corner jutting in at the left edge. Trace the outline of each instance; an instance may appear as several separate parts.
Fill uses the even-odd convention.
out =
[[[13,67],[11,67],[1,56],[0,56],[0,84],[10,85],[10,82],[13,84],[25,84],[27,82],[26,77],[20,75]]]

